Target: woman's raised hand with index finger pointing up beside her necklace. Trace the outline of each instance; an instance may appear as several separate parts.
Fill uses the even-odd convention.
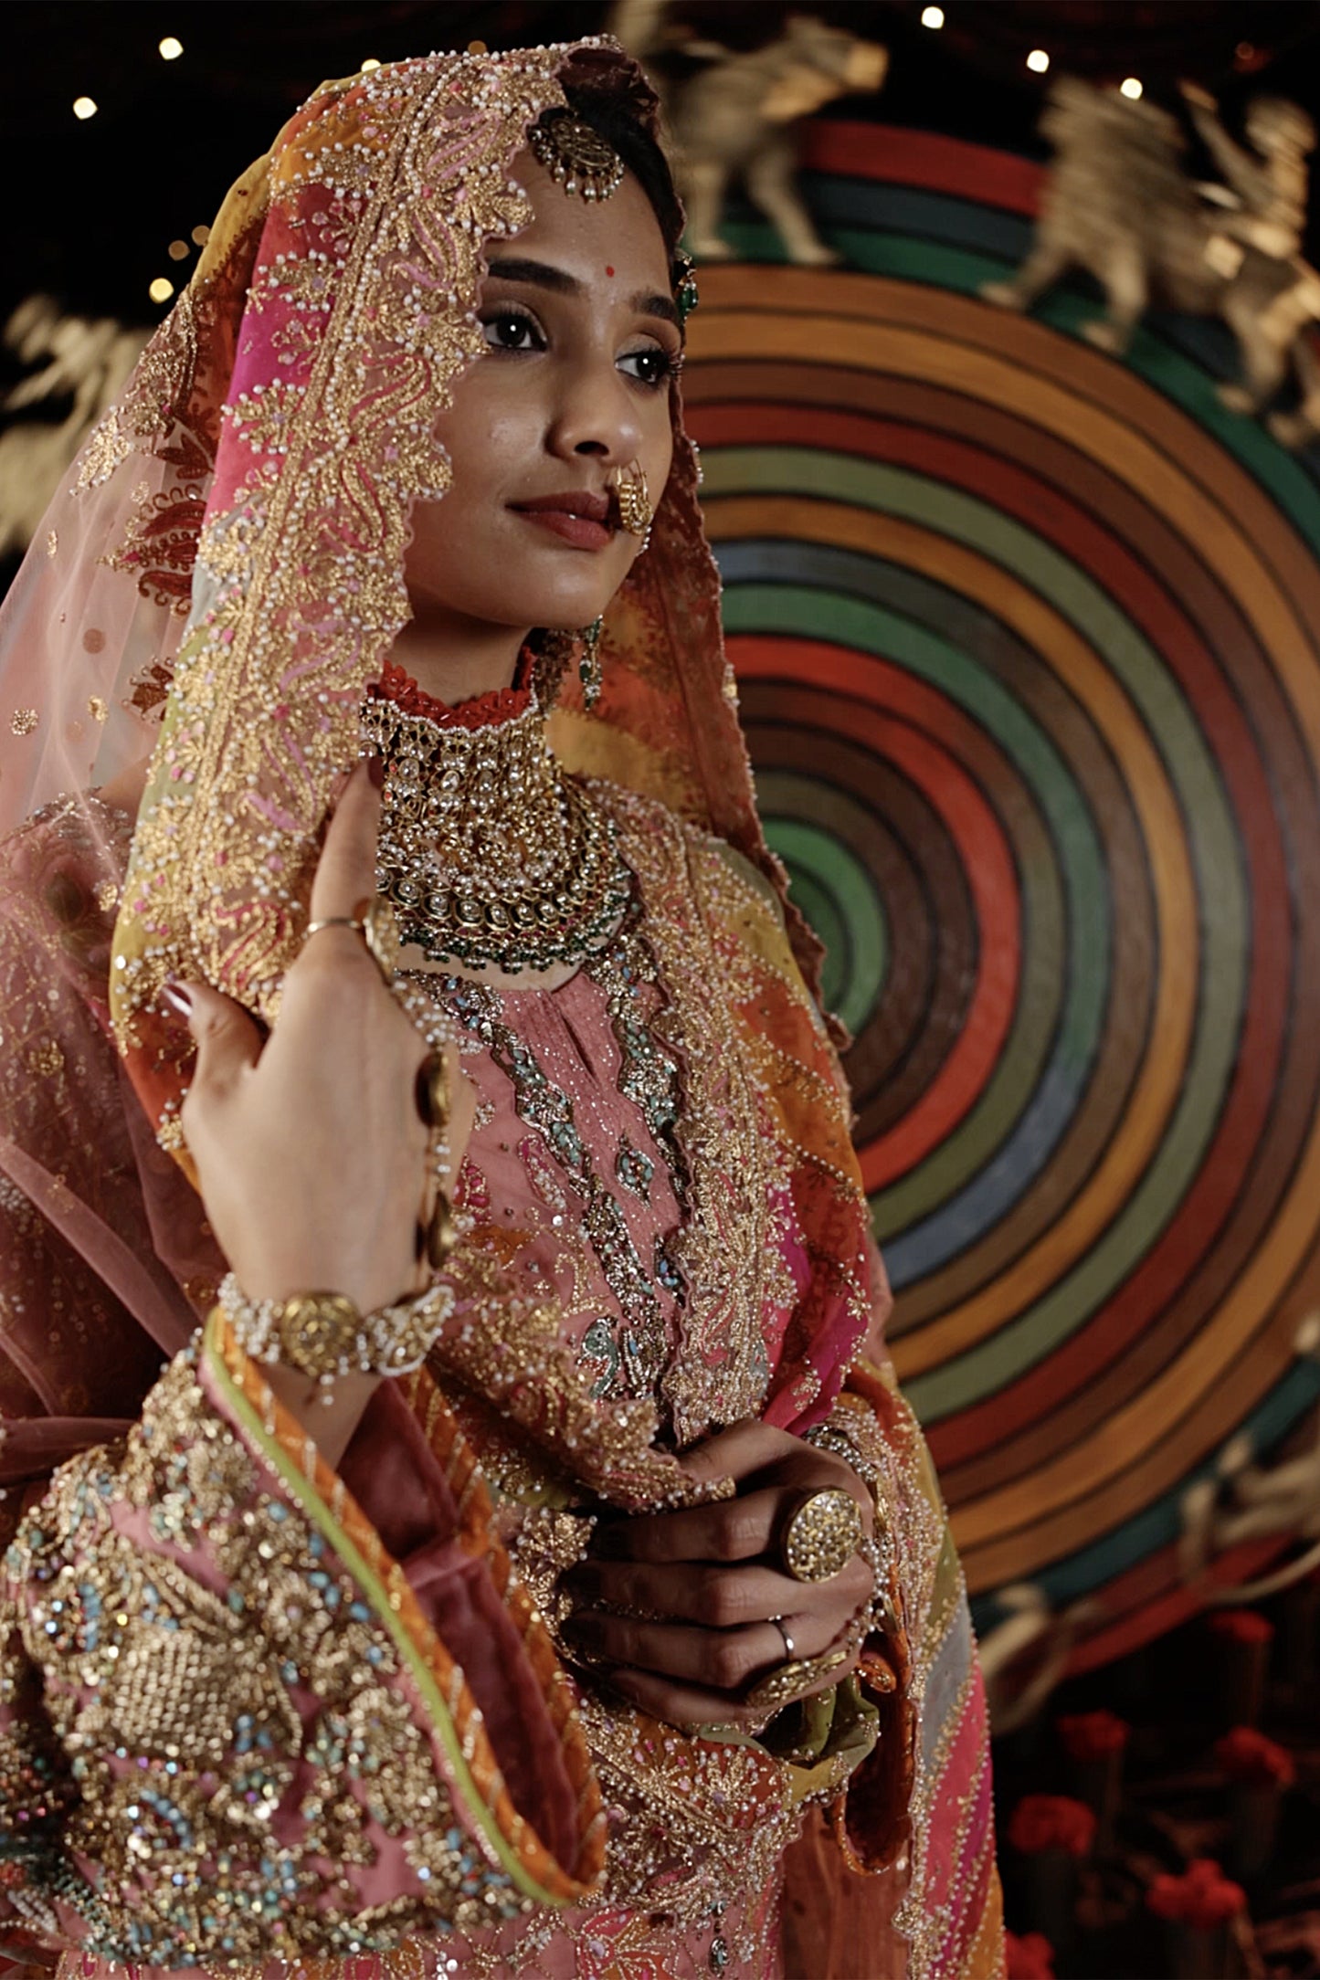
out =
[[[380,792],[364,762],[327,828],[313,921],[362,913],[376,889],[378,828]],[[427,1131],[416,1083],[425,1041],[382,982],[360,933],[325,929],[305,944],[285,976],[269,1038],[241,1004],[208,984],[178,984],[174,994],[188,1006],[198,1041],[184,1135],[206,1216],[243,1293],[255,1301],[346,1293],[370,1313],[420,1289]],[[457,1057],[449,1083],[447,1188],[475,1115]],[[281,1400],[334,1459],[374,1378],[336,1384],[336,1398],[356,1402],[344,1414],[311,1408],[315,1384],[297,1370],[279,1376]]]

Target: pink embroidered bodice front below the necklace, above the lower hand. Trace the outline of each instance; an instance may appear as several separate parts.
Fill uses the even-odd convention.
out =
[[[663,960],[701,929],[695,847],[659,808],[627,812],[651,855],[633,840],[629,863],[651,871],[604,954],[554,990],[427,988],[479,1095],[455,1192],[471,1239],[517,1293],[554,1301],[598,1402],[653,1400],[661,1434],[691,1441],[760,1402],[805,1257],[722,966],[697,954],[683,976]]]

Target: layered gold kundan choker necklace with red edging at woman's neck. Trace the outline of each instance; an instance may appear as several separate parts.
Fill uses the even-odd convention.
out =
[[[534,685],[491,703],[479,723],[390,663],[368,691],[362,737],[386,766],[378,885],[431,962],[578,966],[627,905],[617,832],[556,762]]]

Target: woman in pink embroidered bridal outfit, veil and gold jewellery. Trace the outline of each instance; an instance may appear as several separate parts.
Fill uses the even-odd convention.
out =
[[[67,1970],[999,1970],[653,115],[612,44],[319,91],[6,608],[0,1905]]]

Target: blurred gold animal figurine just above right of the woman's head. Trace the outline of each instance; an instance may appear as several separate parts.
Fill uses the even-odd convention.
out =
[[[742,182],[778,228],[790,261],[803,267],[837,261],[798,192],[794,125],[835,97],[879,89],[887,50],[792,14],[774,42],[738,55],[718,42],[683,40],[667,30],[665,0],[619,0],[610,30],[655,65],[693,253],[708,261],[732,255],[720,236],[720,212],[730,184]],[[673,73],[675,51],[685,75]]]

